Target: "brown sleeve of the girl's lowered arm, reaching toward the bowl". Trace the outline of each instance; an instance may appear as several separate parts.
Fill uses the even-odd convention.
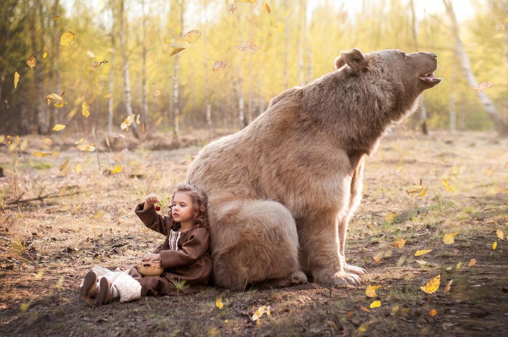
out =
[[[162,265],[164,268],[190,265],[203,256],[209,245],[210,233],[204,228],[197,228],[183,243],[182,249],[161,250]]]

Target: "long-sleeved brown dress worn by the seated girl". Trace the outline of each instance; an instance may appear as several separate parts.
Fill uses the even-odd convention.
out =
[[[153,251],[161,254],[161,276],[142,276],[135,266],[129,275],[141,283],[141,295],[176,295],[175,282],[184,280],[184,289],[179,294],[198,292],[208,285],[212,274],[209,245],[210,233],[204,228],[193,228],[178,232],[179,224],[170,228],[169,216],[162,216],[152,206],[143,210],[144,203],[136,207],[136,215],[149,229],[166,235],[164,244]]]

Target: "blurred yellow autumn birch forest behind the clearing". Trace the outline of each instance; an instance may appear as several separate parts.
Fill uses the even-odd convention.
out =
[[[444,81],[407,128],[506,134],[508,2],[470,1],[472,14],[458,25],[451,4],[428,11],[418,0],[364,0],[353,11],[329,0],[3,1],[0,134],[49,134],[61,124],[81,136],[159,131],[177,141],[184,126],[211,139],[332,71],[340,50],[353,47],[438,55]],[[192,44],[182,40],[189,31]],[[175,46],[185,49],[170,56]],[[51,94],[62,101],[48,104]]]

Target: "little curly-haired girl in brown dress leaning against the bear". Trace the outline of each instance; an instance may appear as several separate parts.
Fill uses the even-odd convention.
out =
[[[82,298],[97,296],[97,304],[103,305],[113,298],[129,302],[145,295],[190,294],[208,285],[212,262],[206,195],[190,184],[176,186],[171,211],[164,217],[155,211],[154,204],[158,202],[158,197],[150,194],[135,212],[146,227],[166,235],[164,244],[142,259],[160,260],[164,272],[160,276],[143,276],[136,266],[125,272],[93,267],[80,288]]]

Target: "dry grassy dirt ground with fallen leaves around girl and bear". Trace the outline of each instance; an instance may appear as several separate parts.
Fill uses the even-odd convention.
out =
[[[398,131],[385,138],[367,160],[363,203],[348,232],[348,262],[369,273],[361,286],[210,286],[102,307],[79,299],[81,278],[94,265],[125,268],[162,243],[134,208],[151,192],[169,197],[202,144],[155,150],[165,146],[152,137],[81,152],[76,138],[46,145],[43,137],[22,137],[20,144],[28,143],[19,161],[0,147],[1,336],[508,335],[508,258],[497,235],[508,234],[508,141],[494,133]],[[55,153],[39,158],[33,151]],[[108,174],[115,166],[121,172]],[[427,194],[408,195],[420,178]],[[9,204],[13,199],[18,203]],[[455,242],[444,244],[455,232]],[[392,245],[401,238],[403,247]],[[415,256],[422,249],[432,251]],[[423,292],[437,275],[438,290]],[[377,297],[366,296],[369,284],[382,286]],[[380,306],[370,308],[376,300]],[[261,306],[270,315],[255,321]]]

